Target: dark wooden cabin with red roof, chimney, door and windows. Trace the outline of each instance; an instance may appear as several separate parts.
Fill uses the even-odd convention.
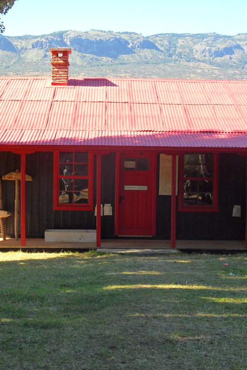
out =
[[[68,79],[71,50],[50,51],[51,79],[0,78],[7,236],[15,181],[3,176],[20,170],[20,246],[96,230],[98,248],[131,238],[245,248],[247,81]]]

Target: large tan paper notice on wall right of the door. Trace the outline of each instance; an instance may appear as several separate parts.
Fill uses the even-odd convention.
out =
[[[176,195],[178,195],[178,169],[179,157],[176,161]],[[158,186],[158,195],[171,195],[171,168],[172,156],[160,154],[160,178]]]

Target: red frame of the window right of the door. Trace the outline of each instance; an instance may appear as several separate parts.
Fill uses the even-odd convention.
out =
[[[193,154],[193,153],[185,153],[185,154]],[[219,155],[218,153],[210,153],[213,154],[213,177],[184,177],[184,155],[180,157],[180,170],[179,170],[179,211],[180,212],[218,212],[218,174],[219,174]],[[196,153],[194,153],[196,154]],[[209,154],[204,152],[198,152],[198,154]],[[212,180],[213,181],[213,204],[212,205],[184,205],[184,180]]]

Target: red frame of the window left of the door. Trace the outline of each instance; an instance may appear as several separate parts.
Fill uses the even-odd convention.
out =
[[[86,152],[83,150],[77,150],[77,151],[59,151],[59,152],[54,152],[54,196],[53,196],[53,209],[54,210],[60,210],[60,211],[93,211],[93,176],[94,176],[94,156],[93,154],[88,153],[88,174],[86,176],[74,176],[74,175],[69,175],[69,178],[72,179],[87,179],[89,181],[89,199],[87,204],[60,204],[59,203],[59,180],[61,178],[66,178],[64,175],[59,174],[59,153],[61,152],[71,152],[73,153],[73,158],[74,158],[74,153],[76,152]],[[73,162],[75,163],[75,162]]]

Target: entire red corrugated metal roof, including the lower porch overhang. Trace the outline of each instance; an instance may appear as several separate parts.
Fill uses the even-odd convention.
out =
[[[247,81],[0,78],[0,144],[247,147]]]

